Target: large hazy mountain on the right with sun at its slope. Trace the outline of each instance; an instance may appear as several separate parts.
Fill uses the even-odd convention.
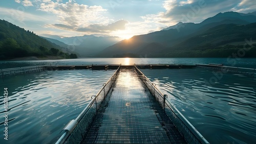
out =
[[[245,39],[256,39],[255,22],[256,12],[219,13],[201,23],[179,22],[161,31],[133,36],[106,47],[97,56],[227,57],[237,52]]]

